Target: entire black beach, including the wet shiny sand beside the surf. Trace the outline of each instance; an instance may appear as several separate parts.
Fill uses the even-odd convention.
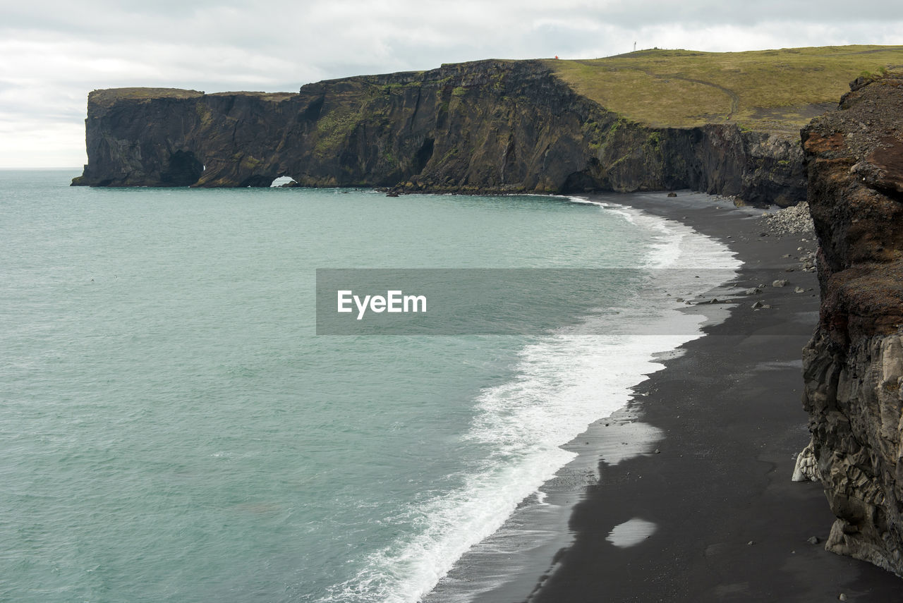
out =
[[[819,298],[815,272],[801,268],[815,236],[778,233],[760,219],[763,209],[729,198],[677,195],[587,197],[728,246],[742,262],[736,279],[702,297],[737,303],[685,306],[708,318],[703,336],[658,355],[665,367],[633,387],[625,407],[564,447],[580,454],[541,488],[545,512],[528,499],[506,523],[545,534],[542,543],[524,551],[490,537],[449,575],[470,596],[441,583],[424,603],[899,598],[893,574],[824,550],[833,515],[822,487],[790,480],[809,441],[802,348]],[[787,286],[772,287],[778,279]],[[759,284],[768,285],[762,293],[742,294]],[[754,310],[757,301],[770,307]],[[633,454],[606,462],[606,450],[638,433],[645,441]]]

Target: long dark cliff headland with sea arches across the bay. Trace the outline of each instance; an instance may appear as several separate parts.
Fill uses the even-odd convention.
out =
[[[539,61],[335,79],[291,93],[155,88],[88,96],[90,186],[385,186],[571,192],[692,188],[749,203],[805,195],[802,153],[737,125],[649,128]]]

